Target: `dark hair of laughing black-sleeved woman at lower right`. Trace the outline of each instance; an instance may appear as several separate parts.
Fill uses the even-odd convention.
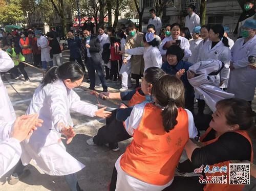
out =
[[[239,125],[240,130],[247,130],[253,125],[253,111],[249,102],[230,98],[217,102],[217,108],[225,111],[228,125]]]

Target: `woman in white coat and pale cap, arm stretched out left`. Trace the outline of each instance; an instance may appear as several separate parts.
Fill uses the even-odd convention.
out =
[[[154,33],[146,33],[143,36],[143,46],[136,47],[134,49],[126,49],[120,54],[129,55],[143,55],[144,58],[144,72],[149,67],[162,67],[162,56],[157,48],[158,41],[156,40]]]

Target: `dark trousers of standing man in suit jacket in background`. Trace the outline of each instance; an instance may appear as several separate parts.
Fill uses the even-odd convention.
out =
[[[88,74],[89,78],[91,80],[90,87],[95,87],[95,71],[97,75],[99,76],[99,79],[101,81],[103,90],[108,90],[108,86],[106,85],[106,80],[104,78],[103,70],[100,64],[96,64],[93,62],[92,58],[87,58],[87,68],[88,68]]]

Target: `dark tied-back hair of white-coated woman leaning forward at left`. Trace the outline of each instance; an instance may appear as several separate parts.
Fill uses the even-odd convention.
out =
[[[72,82],[83,78],[84,71],[76,62],[66,62],[60,66],[51,67],[42,79],[41,86],[53,83],[56,80],[70,79]]]

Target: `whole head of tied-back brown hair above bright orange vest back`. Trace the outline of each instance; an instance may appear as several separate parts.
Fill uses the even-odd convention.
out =
[[[173,75],[162,76],[152,89],[156,104],[163,107],[162,118],[166,132],[177,125],[178,108],[185,105],[185,88],[180,79]]]

